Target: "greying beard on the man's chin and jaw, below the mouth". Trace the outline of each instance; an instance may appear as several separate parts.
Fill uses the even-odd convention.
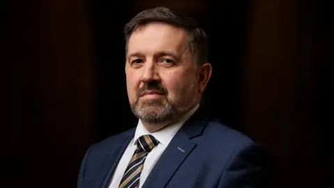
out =
[[[168,99],[145,100],[139,104],[139,100],[131,104],[134,116],[146,123],[166,123],[180,118],[184,113],[189,111],[193,104],[186,107],[177,107],[176,104]]]

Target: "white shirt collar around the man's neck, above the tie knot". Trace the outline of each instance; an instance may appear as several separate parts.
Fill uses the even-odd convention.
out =
[[[193,115],[193,113],[195,113],[195,111],[198,109],[199,106],[200,104],[197,104],[196,107],[193,107],[193,109],[185,113],[184,116],[182,116],[177,123],[168,125],[167,127],[164,127],[163,129],[158,130],[157,132],[152,132],[152,133],[148,132],[148,130],[146,130],[145,127],[143,126],[141,120],[138,120],[138,125],[136,127],[136,132],[134,134],[133,145],[136,146],[137,144],[136,141],[140,136],[143,136],[144,134],[151,134],[152,136],[154,136],[155,139],[159,141],[159,143],[161,143],[164,146],[168,146],[168,143],[170,143],[170,141],[173,139],[177,131],[180,130],[180,128],[182,127],[182,125],[184,125],[186,120],[188,120]]]

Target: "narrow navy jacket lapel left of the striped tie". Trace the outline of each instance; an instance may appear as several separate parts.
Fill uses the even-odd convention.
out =
[[[109,182],[111,181],[111,175],[116,170],[118,162],[120,161],[120,157],[125,152],[125,149],[129,145],[129,142],[134,136],[134,131],[130,132],[125,136],[123,141],[120,141],[120,144],[116,146],[115,150],[111,150],[108,155],[106,155],[104,162],[101,163],[100,173],[97,175],[97,181],[95,183],[95,187],[109,187]],[[102,186],[101,186],[102,185]]]

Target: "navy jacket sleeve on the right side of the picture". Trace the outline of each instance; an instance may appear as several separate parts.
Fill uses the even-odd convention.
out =
[[[234,152],[225,166],[218,188],[264,188],[269,186],[267,153],[253,143]]]

